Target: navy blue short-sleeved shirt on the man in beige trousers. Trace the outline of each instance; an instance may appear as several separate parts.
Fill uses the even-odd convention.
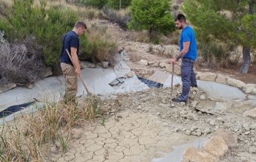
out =
[[[79,39],[76,32],[70,31],[65,34],[62,40],[62,52],[60,53],[60,62],[64,62],[66,64],[73,65],[69,56],[67,55],[67,52],[65,49],[67,49],[69,52],[71,51],[70,48],[76,48],[76,54],[79,54]],[[71,53],[70,53],[71,54]]]

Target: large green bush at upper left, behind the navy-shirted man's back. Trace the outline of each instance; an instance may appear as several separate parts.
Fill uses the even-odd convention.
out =
[[[77,15],[68,9],[46,10],[45,5],[43,0],[40,7],[35,7],[33,0],[14,0],[12,10],[4,11],[7,19],[0,19],[0,30],[11,42],[35,37],[33,48],[43,51],[45,64],[54,67],[59,61],[62,35],[72,29]]]

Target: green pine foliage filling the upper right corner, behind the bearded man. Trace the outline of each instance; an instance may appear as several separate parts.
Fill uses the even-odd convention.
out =
[[[187,0],[183,3],[183,11],[195,26],[201,42],[214,38],[256,48],[256,14],[248,14],[249,7],[255,10],[252,0]]]

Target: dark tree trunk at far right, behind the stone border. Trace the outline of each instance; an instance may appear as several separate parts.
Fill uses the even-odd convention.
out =
[[[248,73],[249,66],[251,64],[251,55],[250,55],[251,48],[243,47],[243,64],[240,69],[240,73]]]

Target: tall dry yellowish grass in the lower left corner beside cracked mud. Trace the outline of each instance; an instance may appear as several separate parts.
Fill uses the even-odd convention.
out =
[[[73,125],[87,123],[98,112],[98,99],[82,97],[78,104],[45,101],[43,108],[26,114],[0,128],[0,161],[45,161],[43,145],[58,141],[62,151],[68,149],[69,132]]]

